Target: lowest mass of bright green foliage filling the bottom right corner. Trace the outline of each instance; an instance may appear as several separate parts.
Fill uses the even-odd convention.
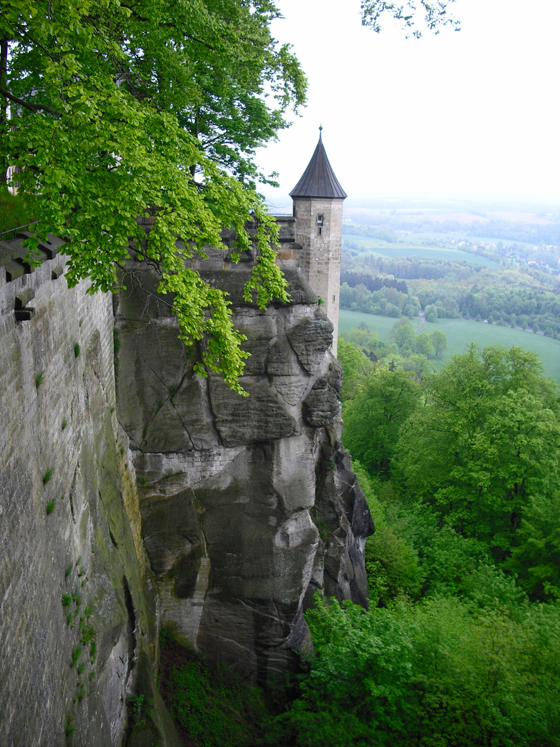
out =
[[[317,598],[306,618],[315,654],[300,697],[277,720],[284,744],[560,743],[557,604],[480,609],[439,597],[365,613]]]

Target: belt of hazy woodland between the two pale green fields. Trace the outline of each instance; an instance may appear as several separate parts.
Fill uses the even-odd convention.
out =
[[[480,317],[550,337],[560,333],[560,279],[529,266],[386,259],[346,249],[340,306],[396,318],[413,318],[423,310],[427,321]]]

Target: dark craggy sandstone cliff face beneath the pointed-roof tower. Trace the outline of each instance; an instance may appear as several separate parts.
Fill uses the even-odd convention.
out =
[[[297,270],[291,303],[242,300],[243,265],[203,270],[228,290],[251,353],[240,397],[193,374],[157,279],[131,262],[119,295],[117,401],[140,492],[161,624],[264,684],[309,645],[314,589],[367,604],[372,524],[340,445],[332,323]]]

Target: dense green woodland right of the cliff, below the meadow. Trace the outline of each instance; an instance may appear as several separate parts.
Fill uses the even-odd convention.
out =
[[[343,339],[339,359],[376,523],[370,611],[317,599],[308,613],[315,654],[277,719],[287,743],[559,745],[556,386],[516,347],[471,346],[422,379]]]

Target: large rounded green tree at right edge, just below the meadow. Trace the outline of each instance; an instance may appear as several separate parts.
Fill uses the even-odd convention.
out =
[[[397,471],[412,499],[503,559],[529,501],[556,489],[559,445],[558,400],[536,356],[471,346],[429,381]]]

